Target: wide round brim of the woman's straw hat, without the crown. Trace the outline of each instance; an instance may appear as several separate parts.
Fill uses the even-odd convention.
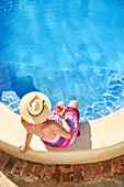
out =
[[[37,117],[33,117],[27,111],[27,102],[29,100],[34,97],[35,95],[37,95],[38,98],[42,98],[45,103],[44,103],[44,110],[43,112],[37,116]],[[48,116],[50,114],[50,110],[52,110],[52,103],[50,100],[48,99],[48,97],[42,92],[38,91],[32,91],[30,94],[26,94],[21,102],[20,102],[20,113],[21,116],[24,118],[24,120],[26,120],[29,123],[33,123],[33,124],[38,124],[42,123],[44,121],[46,121],[46,119],[48,118]]]

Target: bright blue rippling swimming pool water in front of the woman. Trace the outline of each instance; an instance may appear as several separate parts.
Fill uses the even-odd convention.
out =
[[[81,120],[124,106],[123,0],[0,1],[0,96],[19,112],[38,90],[53,108],[79,101]]]

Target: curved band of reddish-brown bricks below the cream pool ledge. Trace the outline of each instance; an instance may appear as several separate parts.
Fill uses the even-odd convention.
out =
[[[50,165],[23,161],[0,151],[0,170],[29,183],[82,184],[124,174],[124,155],[90,164]]]

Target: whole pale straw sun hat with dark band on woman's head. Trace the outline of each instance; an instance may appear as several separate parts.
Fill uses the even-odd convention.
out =
[[[38,91],[29,92],[20,102],[20,113],[29,123],[38,124],[44,122],[50,110],[50,100]]]

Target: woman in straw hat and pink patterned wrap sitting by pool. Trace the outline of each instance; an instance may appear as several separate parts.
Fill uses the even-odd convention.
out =
[[[19,146],[26,153],[33,134],[53,147],[71,145],[79,133],[79,107],[76,100],[66,109],[64,101],[57,103],[53,112],[47,96],[33,91],[25,95],[20,103],[21,122],[26,129],[25,144]]]

